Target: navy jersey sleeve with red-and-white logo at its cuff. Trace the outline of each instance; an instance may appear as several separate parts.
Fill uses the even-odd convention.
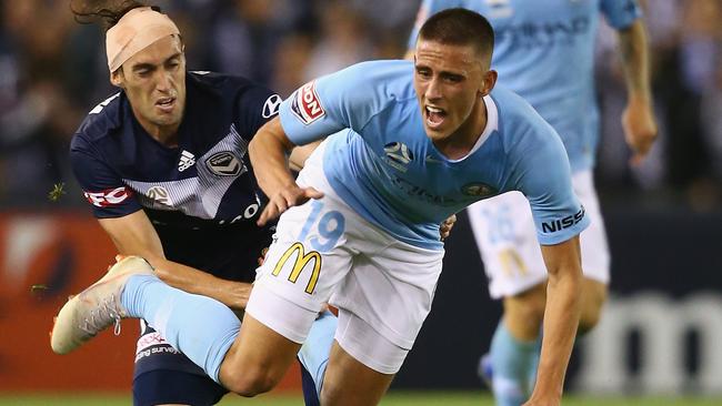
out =
[[[97,219],[113,219],[141,210],[133,192],[89,149],[71,146],[70,163]]]

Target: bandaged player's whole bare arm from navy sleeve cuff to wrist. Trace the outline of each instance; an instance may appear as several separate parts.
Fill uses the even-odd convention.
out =
[[[212,297],[224,305],[244,308],[251,293],[248,283],[221,280],[209,273],[168,261],[150,220],[142,210],[122,217],[98,219],[122,255],[144,257],[158,276],[179,290]]]

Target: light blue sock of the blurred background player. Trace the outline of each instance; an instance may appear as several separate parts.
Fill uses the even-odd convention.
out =
[[[520,406],[527,400],[531,369],[537,368],[538,344],[514,338],[499,322],[491,341],[492,390],[498,406]]]

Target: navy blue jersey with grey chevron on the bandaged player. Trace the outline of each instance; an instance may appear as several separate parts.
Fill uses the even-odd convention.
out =
[[[121,91],[73,135],[70,158],[98,219],[144,210],[166,256],[229,280],[251,280],[270,231],[255,226],[264,197],[250,161],[253,134],[281,98],[242,78],[185,77],[178,146],[151,138]]]

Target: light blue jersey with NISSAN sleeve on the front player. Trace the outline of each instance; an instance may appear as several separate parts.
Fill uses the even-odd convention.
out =
[[[451,161],[427,136],[409,61],[363,62],[310,82],[280,108],[295,144],[330,136],[324,173],[367,221],[438,250],[439,224],[481,199],[518,190],[531,203],[541,244],[588,224],[554,130],[520,97],[484,98],[488,125],[472,152]]]

